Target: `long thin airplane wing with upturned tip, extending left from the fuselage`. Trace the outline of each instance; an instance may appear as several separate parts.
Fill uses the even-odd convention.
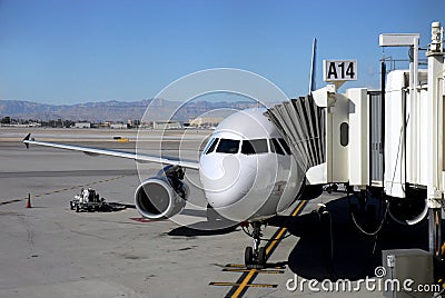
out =
[[[23,139],[24,145],[29,148],[29,145],[38,145],[46,147],[53,147],[66,150],[81,151],[89,156],[112,156],[120,158],[135,159],[138,162],[156,162],[156,163],[165,163],[165,165],[174,165],[180,166],[182,168],[199,170],[199,163],[196,161],[189,160],[179,160],[174,158],[162,158],[147,155],[138,155],[136,152],[120,151],[120,150],[110,150],[110,149],[100,149],[100,148],[91,148],[91,147],[82,147],[82,146],[73,146],[73,145],[63,145],[63,143],[55,143],[55,142],[46,142],[46,141],[36,141],[31,139],[31,133],[29,133]]]

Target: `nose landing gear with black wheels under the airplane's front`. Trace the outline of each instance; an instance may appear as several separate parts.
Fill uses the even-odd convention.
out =
[[[254,247],[246,247],[244,260],[246,267],[249,269],[263,269],[266,265],[266,249],[259,246],[263,237],[261,222],[254,221],[250,225],[254,229],[253,232],[249,234],[251,238],[254,238]]]

